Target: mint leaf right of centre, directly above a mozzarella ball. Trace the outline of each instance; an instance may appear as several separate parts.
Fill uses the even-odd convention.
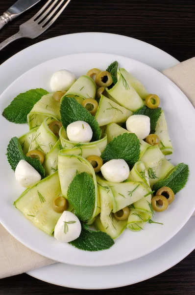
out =
[[[104,149],[101,158],[104,162],[123,159],[130,167],[139,160],[140,142],[134,133],[123,133],[114,138]]]

